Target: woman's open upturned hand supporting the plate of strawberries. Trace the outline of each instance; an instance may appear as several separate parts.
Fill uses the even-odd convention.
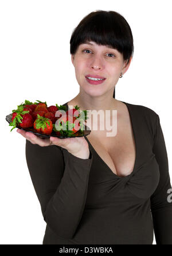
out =
[[[50,146],[56,145],[61,146],[64,149],[67,149],[69,153],[74,156],[77,156],[81,159],[89,158],[89,146],[88,142],[84,137],[75,137],[75,138],[39,138],[37,135],[30,133],[29,131],[24,131],[17,129],[17,132],[20,133],[26,140],[30,141],[32,144],[38,144],[40,146]]]

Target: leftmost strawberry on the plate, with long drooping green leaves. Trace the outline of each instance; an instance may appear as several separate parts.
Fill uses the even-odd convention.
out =
[[[17,110],[13,110],[13,115],[9,126],[14,126],[11,131],[18,126],[22,128],[29,128],[33,126],[32,115],[29,114],[29,110],[25,111],[21,105],[17,106]]]

